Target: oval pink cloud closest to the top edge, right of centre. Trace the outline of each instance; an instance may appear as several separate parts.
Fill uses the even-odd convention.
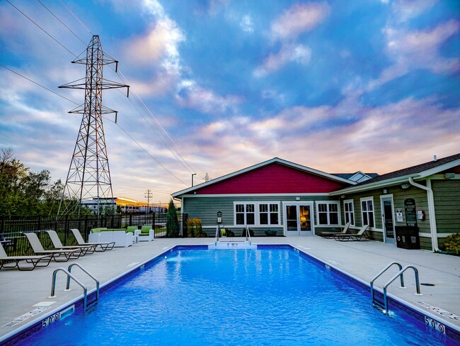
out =
[[[326,3],[294,4],[272,22],[272,39],[295,39],[318,26],[329,13],[330,7]]]

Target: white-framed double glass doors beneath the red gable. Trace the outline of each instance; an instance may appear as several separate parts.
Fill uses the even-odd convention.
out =
[[[286,235],[312,234],[312,203],[284,203],[284,232]]]

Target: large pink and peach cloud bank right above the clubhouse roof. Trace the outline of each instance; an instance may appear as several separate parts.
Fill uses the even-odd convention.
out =
[[[356,115],[353,121],[316,126],[347,113]],[[350,98],[335,107],[286,108],[260,121],[249,116],[221,119],[190,131],[183,140],[191,152],[200,152],[202,167],[212,177],[272,157],[331,173],[364,170],[383,174],[429,161],[433,154],[458,152],[459,127],[460,108],[443,109],[435,98],[409,97],[375,108]]]

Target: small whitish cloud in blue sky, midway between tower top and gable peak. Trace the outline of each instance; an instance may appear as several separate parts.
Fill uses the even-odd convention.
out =
[[[241,96],[220,96],[210,89],[186,80],[179,85],[176,101],[180,106],[194,108],[204,113],[224,113],[231,111],[243,101]]]

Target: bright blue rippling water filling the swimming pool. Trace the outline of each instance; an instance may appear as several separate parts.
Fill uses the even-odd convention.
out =
[[[20,345],[444,345],[292,249],[178,250]]]

